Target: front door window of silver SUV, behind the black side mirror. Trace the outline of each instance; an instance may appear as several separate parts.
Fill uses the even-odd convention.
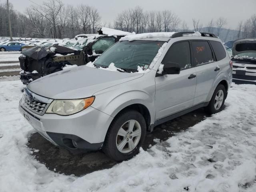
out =
[[[178,42],[173,44],[164,59],[162,60],[162,64],[167,62],[176,63],[180,66],[181,70],[191,68],[191,61],[190,61],[190,47],[189,42]]]

